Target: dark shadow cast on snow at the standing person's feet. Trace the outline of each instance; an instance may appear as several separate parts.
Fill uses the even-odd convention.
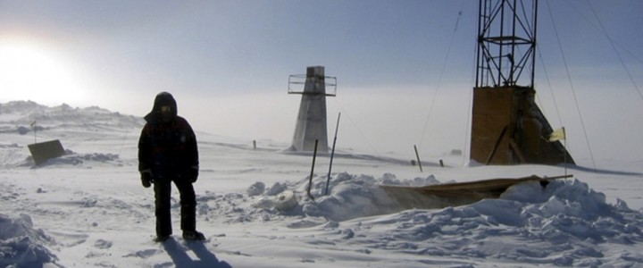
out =
[[[186,252],[187,248],[181,247],[174,239],[168,239],[163,242],[163,248],[170,255],[172,261],[177,268],[182,267],[208,267],[208,268],[232,268],[230,264],[220,261],[216,256],[210,252],[202,242],[186,242],[186,246],[192,250],[197,260],[190,258]]]

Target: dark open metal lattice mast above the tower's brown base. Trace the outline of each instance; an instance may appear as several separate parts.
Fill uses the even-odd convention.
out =
[[[538,0],[480,0],[476,88],[533,88]]]

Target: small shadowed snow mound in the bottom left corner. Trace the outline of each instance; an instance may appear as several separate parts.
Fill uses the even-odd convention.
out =
[[[29,215],[11,218],[0,214],[0,266],[42,267],[53,263],[57,258],[46,248],[48,244],[53,244],[52,239],[33,228]]]

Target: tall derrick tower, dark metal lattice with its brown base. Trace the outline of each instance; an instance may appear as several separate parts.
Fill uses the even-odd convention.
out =
[[[471,159],[573,163],[534,102],[537,0],[480,0]]]

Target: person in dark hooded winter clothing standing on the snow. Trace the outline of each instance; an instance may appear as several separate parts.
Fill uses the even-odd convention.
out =
[[[138,172],[145,188],[154,184],[156,241],[170,239],[171,182],[179,189],[183,239],[203,240],[196,230],[196,196],[192,186],[198,177],[196,135],[188,121],[177,115],[176,100],[161,92],[138,140]]]

